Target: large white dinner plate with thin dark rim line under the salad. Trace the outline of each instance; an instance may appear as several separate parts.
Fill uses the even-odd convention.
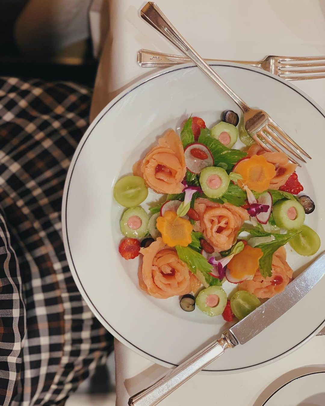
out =
[[[306,224],[325,241],[325,112],[300,90],[264,71],[226,63],[212,67],[247,104],[267,111],[312,156],[297,172],[304,192],[316,205]],[[160,300],[139,289],[139,260],[126,261],[118,252],[123,208],[113,199],[113,186],[119,177],[131,173],[132,164],[165,130],[179,129],[190,114],[211,127],[228,109],[241,115],[197,67],[184,65],[154,73],[98,114],[76,149],[65,183],[65,251],[82,296],[117,339],[167,367],[179,364],[229,324],[199,309],[184,312],[178,297]],[[238,142],[234,148],[242,146]],[[145,202],[155,200],[157,196],[150,192]],[[145,203],[142,206],[146,208]],[[295,275],[313,259],[299,256],[288,244],[286,249]],[[269,328],[245,346],[227,351],[206,371],[247,370],[299,347],[324,324],[324,292],[323,278]]]

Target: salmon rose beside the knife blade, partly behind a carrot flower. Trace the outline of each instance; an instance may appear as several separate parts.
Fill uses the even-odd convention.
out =
[[[282,292],[291,281],[293,270],[286,262],[286,250],[280,247],[272,257],[272,276],[263,278],[258,270],[251,281],[238,283],[239,290],[247,290],[258,298],[271,298]]]

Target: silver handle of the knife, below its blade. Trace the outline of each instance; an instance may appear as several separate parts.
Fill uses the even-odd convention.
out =
[[[218,358],[227,348],[233,348],[226,335],[219,340],[212,341],[197,354],[187,361],[172,369],[167,375],[159,379],[153,385],[130,397],[129,406],[154,406],[161,402],[169,393],[175,391],[184,382],[197,374],[201,369]]]

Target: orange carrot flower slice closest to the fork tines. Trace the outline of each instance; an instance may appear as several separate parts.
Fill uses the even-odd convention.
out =
[[[264,158],[263,155],[252,155],[237,164],[235,172],[243,179],[237,183],[245,184],[249,189],[256,192],[264,192],[269,189],[270,181],[275,177],[275,166]]]

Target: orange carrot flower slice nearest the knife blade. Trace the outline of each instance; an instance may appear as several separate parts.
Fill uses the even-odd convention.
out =
[[[244,249],[235,255],[228,263],[230,275],[236,279],[254,275],[259,267],[259,260],[263,256],[261,248],[252,248],[245,245]]]

